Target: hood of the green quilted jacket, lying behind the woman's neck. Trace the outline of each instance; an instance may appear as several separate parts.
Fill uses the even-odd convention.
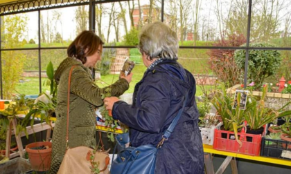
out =
[[[55,71],[54,79],[57,84],[59,84],[62,73],[68,68],[71,68],[73,65],[80,65],[83,68],[85,68],[85,66],[83,66],[83,64],[80,61],[77,61],[76,59],[73,59],[71,57],[67,57],[66,59],[62,61],[62,63],[60,63],[60,66]]]

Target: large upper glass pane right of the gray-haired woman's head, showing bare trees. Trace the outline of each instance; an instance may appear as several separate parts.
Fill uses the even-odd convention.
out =
[[[177,32],[180,45],[212,46],[213,41],[233,35],[247,37],[247,0],[165,0],[164,6],[164,21]]]

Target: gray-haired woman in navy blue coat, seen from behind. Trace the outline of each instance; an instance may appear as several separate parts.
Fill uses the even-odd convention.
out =
[[[133,104],[117,97],[106,97],[104,102],[114,119],[130,127],[131,146],[157,146],[187,96],[173,133],[157,152],[155,173],[200,174],[204,173],[204,153],[196,84],[191,72],[177,62],[178,42],[176,33],[162,22],[144,26],[139,50],[147,70],[134,88]]]

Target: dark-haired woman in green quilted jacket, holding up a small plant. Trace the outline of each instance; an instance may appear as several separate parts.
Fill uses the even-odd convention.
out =
[[[91,70],[101,60],[103,41],[92,31],[83,31],[67,49],[68,57],[55,71],[58,84],[57,121],[53,130],[53,148],[51,173],[58,173],[62,158],[66,152],[67,133],[67,95],[69,71],[72,66],[70,103],[69,103],[69,148],[76,146],[96,146],[96,113],[95,109],[103,105],[101,94],[105,88],[98,88],[91,77]],[[132,74],[122,76],[112,88],[112,96],[120,96],[129,88]]]

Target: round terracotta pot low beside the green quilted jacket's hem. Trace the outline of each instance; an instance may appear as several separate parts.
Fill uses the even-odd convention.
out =
[[[39,147],[48,146],[45,149],[36,149]],[[51,142],[35,142],[26,145],[31,168],[34,171],[48,171],[51,167]]]

